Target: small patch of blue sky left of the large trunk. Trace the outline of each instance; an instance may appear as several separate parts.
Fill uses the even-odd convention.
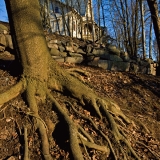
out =
[[[8,15],[4,0],[0,0],[0,21],[8,22]]]

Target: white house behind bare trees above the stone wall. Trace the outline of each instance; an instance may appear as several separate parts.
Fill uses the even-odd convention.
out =
[[[97,40],[99,27],[94,22],[92,0],[49,0],[47,5],[44,1],[40,3],[46,8],[52,33]]]

